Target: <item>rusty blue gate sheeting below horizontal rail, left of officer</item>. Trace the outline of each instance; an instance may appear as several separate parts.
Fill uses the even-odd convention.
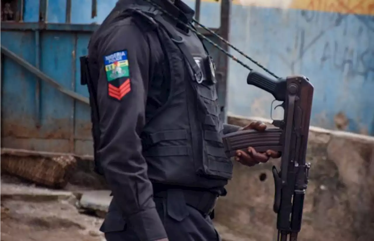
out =
[[[90,34],[45,31],[1,32],[1,42],[23,60],[39,67],[66,90],[88,97],[80,85],[79,59],[86,54]],[[22,37],[24,48],[19,49]],[[19,40],[19,41],[15,41]],[[29,51],[30,46],[33,51]],[[28,49],[27,49],[28,48]],[[3,63],[3,146],[29,150],[91,154],[91,120],[87,103],[76,101],[50,83],[41,82],[9,58]],[[76,143],[85,143],[76,150]],[[79,146],[79,145],[78,145]]]

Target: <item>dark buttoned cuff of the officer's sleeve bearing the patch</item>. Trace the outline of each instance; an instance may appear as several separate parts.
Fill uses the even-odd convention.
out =
[[[167,238],[156,208],[140,211],[131,215],[128,220],[141,241],[156,241]]]

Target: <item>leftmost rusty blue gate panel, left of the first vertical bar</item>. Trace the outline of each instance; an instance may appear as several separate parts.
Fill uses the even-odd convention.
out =
[[[0,31],[2,44],[15,52],[26,61],[35,64],[35,46],[33,33],[30,32],[7,32]],[[6,41],[7,40],[7,41]],[[4,146],[9,143],[7,138],[14,136],[27,138],[37,135],[38,130],[35,127],[34,111],[35,106],[25,106],[27,103],[33,103],[33,92],[35,78],[28,71],[20,68],[16,63],[7,58],[3,60],[3,137]]]

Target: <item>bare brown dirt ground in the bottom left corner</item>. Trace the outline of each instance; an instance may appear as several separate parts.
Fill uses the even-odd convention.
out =
[[[80,214],[69,201],[4,201],[0,241],[105,241],[102,219]]]

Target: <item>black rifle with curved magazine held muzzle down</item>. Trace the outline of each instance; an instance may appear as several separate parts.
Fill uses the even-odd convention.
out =
[[[283,101],[279,106],[284,109],[284,118],[273,120],[277,128],[265,132],[245,130],[224,135],[226,155],[233,157],[236,150],[246,150],[249,146],[258,152],[271,149],[282,153],[281,170],[278,172],[275,166],[272,169],[278,241],[287,241],[288,237],[289,241],[297,241],[310,168],[305,158],[314,88],[304,76],[274,80],[255,71],[248,74],[247,83]]]

